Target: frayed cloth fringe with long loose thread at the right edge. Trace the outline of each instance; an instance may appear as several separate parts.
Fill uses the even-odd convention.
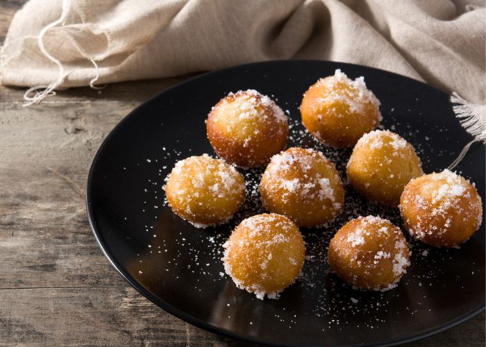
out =
[[[447,167],[452,170],[464,159],[472,144],[486,143],[486,105],[468,103],[456,92],[452,93],[450,100],[451,103],[455,103],[453,105],[455,117],[459,119],[461,126],[474,136],[474,139],[462,148],[458,157]]]

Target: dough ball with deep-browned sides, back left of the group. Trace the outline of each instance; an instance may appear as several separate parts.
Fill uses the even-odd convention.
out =
[[[283,149],[287,116],[256,90],[230,93],[212,108],[206,122],[217,155],[239,167],[258,167]]]

